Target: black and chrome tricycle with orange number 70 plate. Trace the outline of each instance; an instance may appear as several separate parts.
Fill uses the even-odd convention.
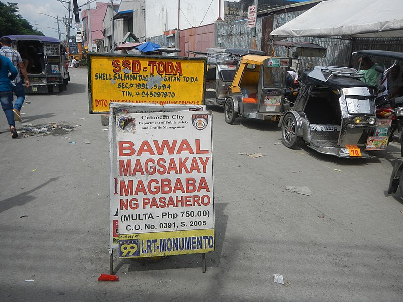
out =
[[[377,89],[361,78],[362,73],[345,67],[304,72],[294,107],[279,122],[283,144],[293,148],[303,141],[317,152],[343,158],[368,158],[368,150],[385,149],[384,137],[368,139],[376,127]]]

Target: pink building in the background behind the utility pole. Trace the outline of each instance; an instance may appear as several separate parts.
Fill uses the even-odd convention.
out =
[[[95,9],[90,9],[90,19],[91,19],[91,39],[92,44],[94,41],[101,39],[103,41],[103,19],[105,17],[106,9],[109,3],[97,2]],[[83,35],[84,35],[84,46],[88,46],[88,10],[83,10],[81,12],[81,21],[83,22]],[[103,43],[102,43],[103,45]],[[89,51],[91,51],[89,49]],[[99,51],[99,49],[93,48],[92,51]]]

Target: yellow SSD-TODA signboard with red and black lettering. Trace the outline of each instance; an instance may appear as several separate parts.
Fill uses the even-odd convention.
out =
[[[201,105],[205,66],[204,58],[89,54],[90,113],[109,113],[109,102]]]

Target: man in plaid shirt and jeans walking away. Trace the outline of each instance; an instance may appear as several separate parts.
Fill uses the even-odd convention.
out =
[[[25,87],[29,87],[27,69],[25,68],[20,53],[17,50],[11,48],[12,41],[10,38],[2,37],[0,39],[0,44],[2,44],[2,48],[0,49],[0,55],[9,58],[10,61],[13,63],[14,67],[18,71],[18,75],[13,81],[14,85],[12,87],[14,93],[17,96],[17,100],[14,102],[13,112],[15,120],[22,122],[20,111],[22,108],[22,104],[24,103],[25,100],[25,90],[22,84],[21,74],[25,78]]]

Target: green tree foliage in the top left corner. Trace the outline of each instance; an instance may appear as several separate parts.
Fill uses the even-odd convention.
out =
[[[15,2],[0,1],[0,37],[4,35],[39,35],[41,31],[33,29],[32,25],[18,14],[18,6]]]

